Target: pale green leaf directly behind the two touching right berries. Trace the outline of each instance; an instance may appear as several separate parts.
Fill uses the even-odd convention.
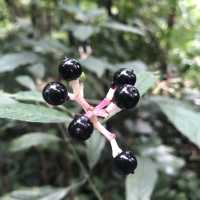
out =
[[[144,95],[150,88],[156,83],[157,78],[152,72],[143,71],[137,74],[136,87],[138,88],[140,95]]]

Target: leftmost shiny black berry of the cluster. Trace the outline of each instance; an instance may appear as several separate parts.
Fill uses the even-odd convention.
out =
[[[62,83],[56,81],[48,83],[44,87],[42,95],[48,104],[54,106],[61,105],[69,100],[66,87]]]

